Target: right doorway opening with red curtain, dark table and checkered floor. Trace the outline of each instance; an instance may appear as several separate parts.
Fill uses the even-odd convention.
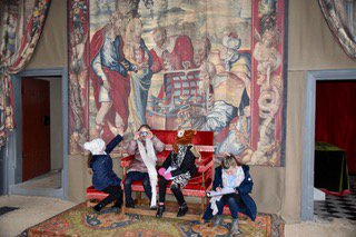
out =
[[[356,220],[356,81],[316,82],[314,186],[318,218]]]

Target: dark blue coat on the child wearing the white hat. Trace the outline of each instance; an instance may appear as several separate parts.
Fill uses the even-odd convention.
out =
[[[97,190],[102,190],[109,186],[119,186],[121,179],[112,170],[112,159],[110,152],[122,140],[120,135],[116,136],[107,146],[107,155],[95,155],[90,160],[92,169],[92,185]]]

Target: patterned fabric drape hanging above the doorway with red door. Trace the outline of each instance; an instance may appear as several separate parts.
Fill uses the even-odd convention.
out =
[[[30,61],[41,36],[50,2],[50,0],[37,1],[24,33],[17,30],[21,26],[17,23],[18,19],[21,14],[26,14],[22,10],[23,4],[20,7],[19,1],[14,1],[3,7],[6,12],[1,19],[3,30],[0,39],[0,148],[14,128],[11,75],[23,70]],[[21,43],[17,47],[16,39],[20,36],[22,36]]]

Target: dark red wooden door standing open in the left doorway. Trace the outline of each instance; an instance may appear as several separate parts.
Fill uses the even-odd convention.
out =
[[[22,78],[22,181],[50,171],[49,81]]]

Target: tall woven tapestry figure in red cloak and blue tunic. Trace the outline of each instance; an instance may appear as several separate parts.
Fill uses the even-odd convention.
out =
[[[97,135],[108,140],[117,128],[127,129],[130,71],[137,66],[123,52],[125,16],[116,11],[110,22],[91,39],[91,83],[97,105]]]

